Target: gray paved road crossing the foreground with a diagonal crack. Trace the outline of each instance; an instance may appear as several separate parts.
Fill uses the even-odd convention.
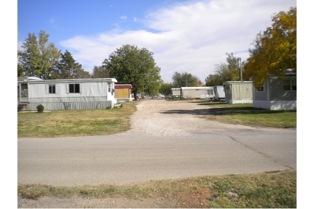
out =
[[[194,136],[18,139],[18,183],[127,184],[297,169],[296,130],[248,127],[191,132]]]

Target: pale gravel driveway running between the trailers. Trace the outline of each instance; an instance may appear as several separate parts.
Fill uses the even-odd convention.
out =
[[[137,105],[137,112],[131,117],[132,129],[127,134],[187,137],[255,129],[201,119],[199,116],[208,115],[209,108],[193,102],[146,99]]]

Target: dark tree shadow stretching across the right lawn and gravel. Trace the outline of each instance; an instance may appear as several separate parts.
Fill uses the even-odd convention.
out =
[[[210,105],[210,103],[209,103]],[[167,110],[162,114],[191,114],[191,115],[258,115],[258,114],[278,114],[285,112],[296,112],[288,110],[265,110],[253,107],[219,107],[198,110]]]

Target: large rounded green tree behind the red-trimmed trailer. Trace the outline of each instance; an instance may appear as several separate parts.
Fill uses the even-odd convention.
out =
[[[117,79],[118,83],[131,83],[134,95],[137,92],[146,91],[150,94],[158,91],[162,82],[153,53],[146,48],[122,45],[105,59],[103,67],[109,70],[110,77]]]

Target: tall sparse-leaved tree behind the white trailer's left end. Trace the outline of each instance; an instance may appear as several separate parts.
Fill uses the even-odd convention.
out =
[[[22,51],[17,51],[18,64],[25,76],[34,76],[47,79],[52,70],[58,66],[61,50],[53,43],[48,42],[49,34],[40,30],[37,36],[28,33],[23,42]]]

